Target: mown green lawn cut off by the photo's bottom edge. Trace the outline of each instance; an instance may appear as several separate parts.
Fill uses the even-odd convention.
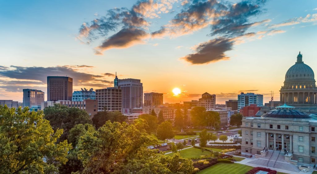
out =
[[[247,171],[253,169],[253,167],[243,164],[228,164],[218,163],[207,169],[204,169],[198,174],[210,174],[210,173],[225,173],[225,174],[245,174]]]

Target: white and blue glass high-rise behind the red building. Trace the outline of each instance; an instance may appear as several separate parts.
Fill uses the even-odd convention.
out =
[[[238,95],[238,111],[244,106],[250,106],[256,104],[256,106],[263,106],[263,95],[254,93],[241,93]]]

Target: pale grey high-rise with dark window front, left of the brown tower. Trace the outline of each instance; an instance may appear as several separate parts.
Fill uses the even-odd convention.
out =
[[[36,89],[23,89],[23,107],[41,106],[44,92]]]

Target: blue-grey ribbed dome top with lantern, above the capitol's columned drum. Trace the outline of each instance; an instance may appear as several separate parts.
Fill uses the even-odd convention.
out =
[[[314,71],[302,61],[301,52],[297,55],[297,62],[288,69],[285,75],[285,81],[293,80],[314,80]]]

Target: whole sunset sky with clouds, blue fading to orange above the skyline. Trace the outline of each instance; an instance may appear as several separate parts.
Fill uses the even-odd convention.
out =
[[[241,92],[278,101],[299,51],[317,68],[315,0],[0,0],[0,21],[0,100],[46,93],[55,75],[73,90],[112,87],[117,72],[169,103],[205,92],[218,104]]]

